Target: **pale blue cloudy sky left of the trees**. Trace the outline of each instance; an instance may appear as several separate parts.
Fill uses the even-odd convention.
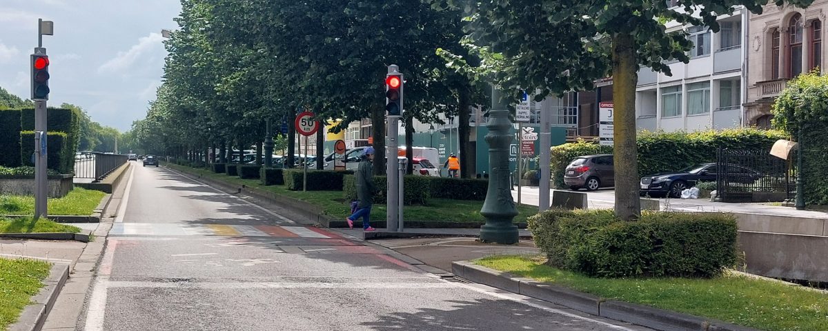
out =
[[[55,35],[43,36],[48,104],[73,103],[127,131],[155,99],[167,54],[161,30],[176,29],[180,12],[179,0],[0,0],[0,87],[31,96],[37,19],[53,21]]]

